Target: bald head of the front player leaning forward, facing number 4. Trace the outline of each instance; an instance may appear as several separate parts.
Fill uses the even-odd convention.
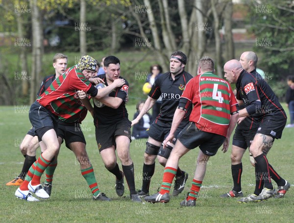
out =
[[[239,75],[243,71],[242,64],[237,59],[227,61],[223,66],[224,77],[230,84],[237,83]]]

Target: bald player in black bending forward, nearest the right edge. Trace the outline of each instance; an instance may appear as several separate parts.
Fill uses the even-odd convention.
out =
[[[246,53],[246,52],[245,52]],[[242,58],[243,56],[241,56]],[[246,107],[239,112],[238,124],[247,116],[254,115],[258,129],[251,142],[249,151],[255,161],[255,175],[264,181],[264,188],[259,195],[249,195],[238,202],[261,201],[277,195],[271,178],[277,182],[279,195],[285,194],[290,184],[285,181],[269,164],[266,154],[274,139],[280,139],[286,125],[287,116],[270,86],[258,73],[248,73],[238,60],[230,60],[224,65],[224,77],[236,84],[237,99]],[[274,118],[273,118],[274,117]]]

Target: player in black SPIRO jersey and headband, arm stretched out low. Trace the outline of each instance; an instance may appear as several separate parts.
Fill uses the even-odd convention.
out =
[[[141,197],[149,194],[149,186],[155,170],[156,157],[159,163],[165,167],[174,146],[176,139],[173,140],[173,143],[169,143],[167,148],[163,148],[162,142],[170,133],[173,114],[178,106],[185,85],[193,78],[191,74],[184,70],[186,63],[187,56],[183,52],[176,51],[172,53],[170,58],[170,72],[161,75],[155,80],[143,109],[137,118],[132,121],[132,126],[138,123],[143,115],[152,108],[156,100],[160,96],[162,97],[160,112],[149,129],[147,129],[149,138],[146,142],[144,153],[143,184],[141,190],[138,192]],[[187,115],[179,125],[175,136],[189,123],[191,111],[192,107],[189,108]],[[172,193],[174,196],[184,190],[188,173],[178,167],[175,178]]]

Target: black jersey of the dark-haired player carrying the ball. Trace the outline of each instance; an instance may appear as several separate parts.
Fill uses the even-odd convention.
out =
[[[101,78],[105,85],[108,86],[106,81],[106,74],[101,74],[97,76]],[[120,77],[125,80],[124,78]],[[109,97],[118,97],[123,99],[122,104],[119,108],[113,109],[108,106],[102,108],[97,108],[94,106],[94,125],[98,127],[99,125],[114,124],[123,118],[128,118],[128,113],[125,108],[125,98],[128,93],[128,82],[125,80],[125,84],[121,87],[115,88],[112,92],[109,93]]]

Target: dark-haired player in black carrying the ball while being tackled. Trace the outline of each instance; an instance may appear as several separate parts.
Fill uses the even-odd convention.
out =
[[[104,59],[105,74],[98,75],[104,84],[113,84],[116,80],[124,80],[121,87],[115,88],[109,96],[100,98],[103,107],[94,106],[94,125],[98,150],[108,171],[116,176],[116,193],[124,194],[123,178],[127,181],[130,198],[133,202],[142,202],[135,189],[134,164],[130,157],[131,122],[125,108],[128,93],[128,82],[120,76],[121,62],[116,56]],[[81,98],[82,94],[79,94]],[[88,106],[85,105],[87,108]],[[89,108],[91,109],[91,108]],[[122,162],[123,171],[117,163],[116,151]]]

